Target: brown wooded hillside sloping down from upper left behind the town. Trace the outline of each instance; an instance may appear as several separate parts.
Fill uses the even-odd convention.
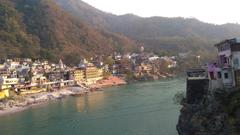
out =
[[[52,0],[0,1],[0,58],[31,57],[78,63],[83,56],[135,48],[134,41],[97,30]]]

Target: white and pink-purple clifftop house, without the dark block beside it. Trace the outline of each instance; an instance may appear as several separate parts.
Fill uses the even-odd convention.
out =
[[[217,62],[208,64],[211,89],[240,87],[240,38],[215,45]]]

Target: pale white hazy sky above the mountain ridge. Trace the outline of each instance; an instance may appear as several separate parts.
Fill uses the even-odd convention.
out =
[[[117,15],[191,17],[204,22],[240,23],[240,0],[83,0]]]

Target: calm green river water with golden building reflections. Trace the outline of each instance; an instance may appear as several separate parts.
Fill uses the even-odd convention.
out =
[[[3,135],[175,135],[184,79],[108,88],[67,97],[0,118]]]

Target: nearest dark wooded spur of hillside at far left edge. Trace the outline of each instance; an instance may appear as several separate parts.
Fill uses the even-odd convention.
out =
[[[35,57],[40,49],[37,37],[27,33],[21,14],[8,0],[0,1],[0,57]]]

